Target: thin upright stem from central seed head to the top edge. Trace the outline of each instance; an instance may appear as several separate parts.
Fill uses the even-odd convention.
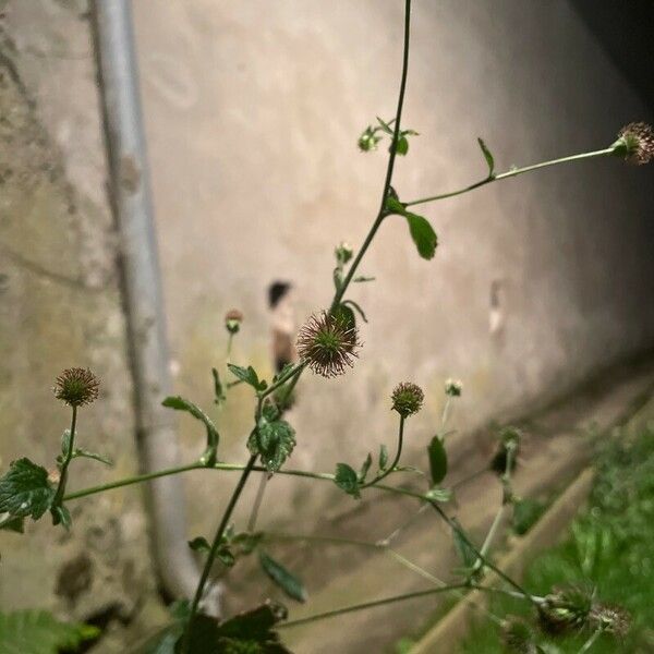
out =
[[[396,148],[398,144],[398,140],[400,136],[400,121],[402,119],[402,108],[404,107],[404,93],[407,90],[407,77],[409,74],[409,41],[411,36],[411,0],[405,0],[404,2],[404,47],[402,52],[402,76],[400,80],[400,93],[398,95],[398,107],[396,110],[395,117],[395,130],[392,134],[392,142],[390,144],[390,156],[388,157],[388,166],[386,168],[386,179],[384,180],[384,190],[382,192],[382,203],[379,205],[379,211],[377,213],[377,218],[375,222],[373,222],[373,227],[371,231],[367,233],[361,250],[356,253],[352,265],[350,266],[348,274],[346,275],[346,279],[340,288],[336,291],[334,295],[334,300],[331,302],[330,312],[334,312],[336,307],[339,305],[342,300],[356,269],[359,268],[359,264],[361,264],[361,259],[364,257],[367,249],[370,247],[377,230],[379,229],[384,218],[386,216],[386,198],[388,197],[388,193],[390,192],[390,184],[392,182],[392,172],[395,169],[395,160],[396,160]]]

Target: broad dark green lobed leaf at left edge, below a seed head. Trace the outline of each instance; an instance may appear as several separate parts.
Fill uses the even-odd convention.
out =
[[[12,461],[9,472],[0,479],[0,513],[38,520],[53,499],[48,471],[29,459]]]

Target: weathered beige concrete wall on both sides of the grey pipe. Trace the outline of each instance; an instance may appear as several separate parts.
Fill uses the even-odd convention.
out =
[[[398,161],[404,199],[480,179],[477,135],[506,169],[604,147],[623,123],[647,118],[564,0],[414,4],[405,125],[421,136]],[[234,362],[269,373],[267,286],[293,282],[300,324],[331,295],[334,245],[358,245],[374,218],[385,153],[364,156],[355,142],[375,114],[392,114],[402,2],[134,0],[133,8],[177,388],[210,410],[225,311],[239,306],[246,316]],[[51,379],[65,365],[92,365],[105,398],[87,413],[85,433],[118,465],[80,464],[80,485],[134,467],[86,9],[83,0],[4,3],[11,40],[2,52],[20,84],[4,65],[2,113],[11,120],[2,129],[13,141],[0,145],[3,167],[20,172],[3,175],[0,216],[2,465],[24,452],[52,459],[66,415],[49,397]],[[403,379],[427,396],[409,425],[408,457],[420,462],[446,377],[464,383],[453,417],[465,433],[650,347],[652,190],[651,169],[605,160],[428,205],[440,239],[431,263],[417,258],[403,221],[389,219],[362,268],[377,281],[351,294],[370,319],[365,347],[344,378],[303,379],[290,414],[299,435],[292,465],[331,470],[380,441],[390,446],[388,396]],[[495,287],[500,328],[492,334]],[[245,458],[251,400],[239,388],[216,415],[222,459]],[[180,435],[186,459],[202,450],[197,424],[183,420]],[[208,534],[234,477],[186,481],[190,533]],[[76,531],[56,545],[48,525],[35,538],[0,536],[3,608],[65,609],[57,574],[96,530],[118,541],[90,555],[101,573],[72,613],[100,597],[99,588],[105,600],[121,597],[128,614],[150,596],[140,495],[80,506]],[[311,531],[353,506],[336,488],[275,479],[262,526],[292,516]],[[46,543],[48,561],[36,556]],[[25,547],[34,556],[22,556]],[[37,572],[25,577],[34,560]]]

